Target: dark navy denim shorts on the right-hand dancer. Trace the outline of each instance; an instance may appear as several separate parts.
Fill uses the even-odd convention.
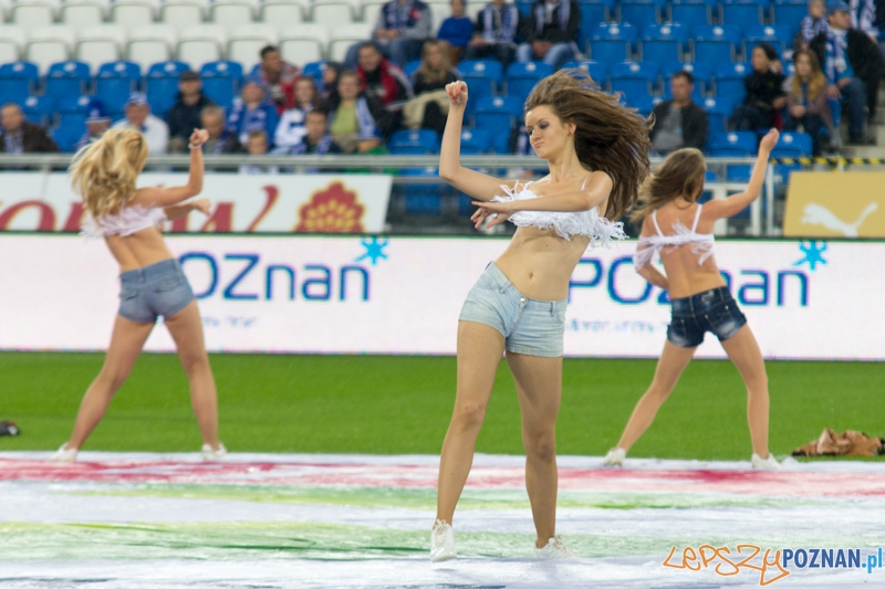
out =
[[[680,348],[694,348],[704,343],[704,334],[716,334],[725,341],[747,325],[727,286],[704,291],[685,298],[674,298],[667,339]]]

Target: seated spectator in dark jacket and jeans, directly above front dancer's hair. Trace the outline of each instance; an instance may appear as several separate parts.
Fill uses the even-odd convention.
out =
[[[517,48],[517,61],[543,61],[554,70],[577,55],[581,7],[574,0],[541,0],[525,20],[525,42]]]

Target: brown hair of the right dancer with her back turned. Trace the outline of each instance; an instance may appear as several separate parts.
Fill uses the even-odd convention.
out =
[[[694,201],[704,189],[706,172],[704,154],[694,147],[677,149],[643,183],[629,220],[642,223],[652,211],[679,197]]]

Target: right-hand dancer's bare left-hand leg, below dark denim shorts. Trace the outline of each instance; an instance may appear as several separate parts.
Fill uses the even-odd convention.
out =
[[[655,368],[655,378],[648,390],[636,403],[633,414],[627,421],[627,427],[624,433],[621,434],[621,441],[617,442],[617,448],[623,448],[628,451],[631,446],[636,443],[636,440],[645,433],[645,430],[652,424],[657,416],[657,410],[664,404],[664,401],[670,396],[683,371],[691,361],[697,348],[680,348],[674,346],[669,341],[664,344],[664,351],[660,354],[660,359],[657,361]]]

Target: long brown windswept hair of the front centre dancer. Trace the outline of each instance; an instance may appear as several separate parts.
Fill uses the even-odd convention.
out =
[[[596,90],[583,70],[560,70],[539,82],[525,101],[525,112],[542,105],[560,120],[575,124],[577,159],[589,171],[602,170],[612,178],[604,215],[620,219],[648,175],[648,129],[654,118],[645,118],[621,104],[617,96]]]

